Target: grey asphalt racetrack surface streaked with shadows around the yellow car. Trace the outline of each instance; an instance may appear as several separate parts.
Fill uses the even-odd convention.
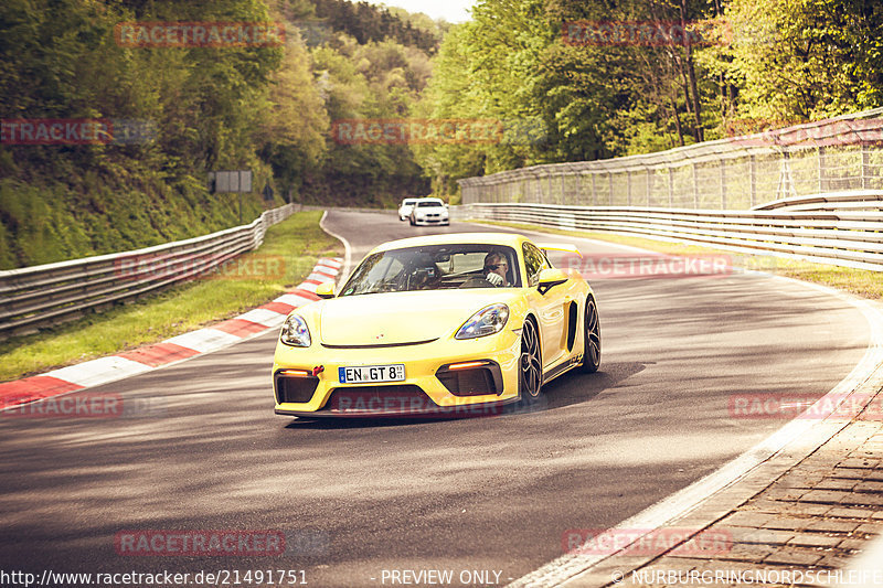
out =
[[[343,212],[329,213],[327,226],[351,243],[354,261],[391,238],[487,229]],[[448,569],[450,586],[506,584],[560,556],[568,530],[616,525],[784,424],[734,418],[733,395],[821,396],[868,343],[848,303],[759,275],[593,286],[602,370],[558,378],[532,411],[379,423],[275,416],[269,333],[86,393],[142,400],[139,417],[0,416],[0,570],[286,569],[338,587],[401,586],[416,578],[394,582],[392,570]],[[115,537],[149,530],[270,530],[287,534],[289,549],[118,553]],[[269,584],[254,579],[241,586]]]

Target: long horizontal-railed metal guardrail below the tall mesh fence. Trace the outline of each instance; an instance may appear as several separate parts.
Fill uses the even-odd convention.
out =
[[[883,270],[883,211],[713,211],[560,204],[468,204],[457,217],[606,231],[751,254]]]

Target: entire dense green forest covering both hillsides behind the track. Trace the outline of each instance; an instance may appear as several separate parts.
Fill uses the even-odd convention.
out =
[[[126,23],[273,23],[281,40],[141,46]],[[883,106],[876,0],[479,0],[460,24],[348,0],[4,0],[0,54],[0,269],[234,226],[220,170],[253,172],[246,221],[456,203],[461,178]],[[15,140],[55,120],[117,130]],[[336,137],[361,120],[455,135]]]

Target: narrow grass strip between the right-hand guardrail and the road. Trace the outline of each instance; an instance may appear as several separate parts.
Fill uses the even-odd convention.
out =
[[[591,232],[591,231],[564,231],[561,228],[544,227],[540,225],[526,225],[521,223],[503,223],[497,221],[475,221],[483,224],[508,226],[523,231],[540,231],[553,235],[567,235],[585,237],[598,240],[606,240],[618,245],[630,245],[651,252],[659,252],[671,255],[690,254],[720,254],[727,255],[733,260],[733,267],[766,271],[777,276],[786,276],[799,280],[811,281],[830,286],[855,296],[872,300],[883,299],[883,272],[866,269],[852,269],[848,267],[828,266],[825,264],[813,264],[799,259],[788,259],[772,255],[752,255],[701,245],[687,243],[675,243],[667,240],[649,239],[631,235],[617,235],[615,233]]]

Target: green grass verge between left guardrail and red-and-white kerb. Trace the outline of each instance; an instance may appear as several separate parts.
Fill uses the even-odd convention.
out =
[[[264,244],[223,271],[106,312],[0,343],[0,382],[157,343],[260,306],[298,285],[340,242],[319,227],[321,211],[273,226]]]

